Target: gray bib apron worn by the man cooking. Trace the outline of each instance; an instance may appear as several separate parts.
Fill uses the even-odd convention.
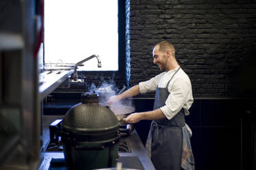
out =
[[[181,67],[178,68],[174,75],[179,69],[181,69]],[[174,75],[172,75],[170,81]],[[165,106],[165,101],[170,95],[167,88],[170,81],[165,88],[156,88],[154,110]],[[185,131],[185,133],[183,131]],[[189,142],[189,144],[187,144],[187,142]],[[149,155],[156,169],[181,170],[182,162],[183,165],[185,165],[183,166],[185,170],[194,169],[193,154],[191,154],[191,152],[189,152],[189,154],[185,152],[184,154],[184,146],[187,147],[187,151],[190,151],[190,138],[189,132],[185,126],[185,113],[183,109],[170,120],[163,119],[152,121],[146,147],[149,150]],[[189,159],[191,156],[192,159]],[[187,163],[187,160],[191,160],[191,162]]]

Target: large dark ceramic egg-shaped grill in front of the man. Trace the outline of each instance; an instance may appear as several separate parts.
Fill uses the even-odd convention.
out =
[[[69,169],[115,167],[119,123],[111,110],[99,104],[97,93],[82,94],[82,103],[73,106],[54,128],[62,138]]]

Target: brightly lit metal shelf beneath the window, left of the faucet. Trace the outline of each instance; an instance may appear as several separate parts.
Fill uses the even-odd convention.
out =
[[[39,75],[40,100],[43,100],[49,93],[54,91],[62,82],[67,80],[73,73],[70,71],[45,71]]]

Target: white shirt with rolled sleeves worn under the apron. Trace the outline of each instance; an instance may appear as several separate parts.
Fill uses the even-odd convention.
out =
[[[140,82],[139,92],[141,94],[154,92],[157,86],[159,88],[165,88],[178,68],[179,66],[168,72],[160,73],[146,82]],[[172,119],[182,108],[184,108],[185,115],[189,115],[189,108],[193,104],[194,99],[191,82],[183,69],[180,69],[176,75],[174,75],[169,83],[168,91],[170,95],[165,101],[165,106],[160,108],[163,114],[165,114],[165,117],[169,120]]]

